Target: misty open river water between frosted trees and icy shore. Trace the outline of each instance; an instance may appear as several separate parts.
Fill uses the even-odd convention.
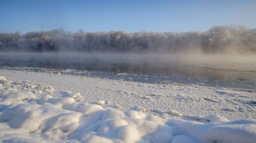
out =
[[[1,53],[0,66],[256,81],[255,55]]]

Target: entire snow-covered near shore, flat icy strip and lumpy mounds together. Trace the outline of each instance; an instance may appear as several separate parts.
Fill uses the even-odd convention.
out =
[[[0,75],[7,77],[0,77],[2,142],[256,140],[254,91],[14,70]]]

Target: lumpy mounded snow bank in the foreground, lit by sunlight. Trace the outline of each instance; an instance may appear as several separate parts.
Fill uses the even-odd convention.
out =
[[[40,92],[38,92],[40,91]],[[256,120],[163,119],[54,97],[53,88],[0,77],[2,142],[255,142]],[[86,100],[86,99],[85,99]],[[172,114],[179,115],[172,111]],[[191,118],[190,118],[191,119]]]

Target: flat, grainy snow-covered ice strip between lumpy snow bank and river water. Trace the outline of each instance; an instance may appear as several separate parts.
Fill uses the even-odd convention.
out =
[[[255,87],[234,89],[210,86],[206,80],[195,83],[143,83],[109,79],[97,73],[98,77],[77,75],[82,71],[67,74],[70,70],[33,70],[0,69],[2,76],[13,81],[33,81],[51,85],[54,97],[73,97],[75,101],[98,103],[106,101],[102,107],[114,107],[125,111],[139,106],[145,111],[161,117],[172,116],[171,111],[181,115],[221,115],[228,120],[255,119]],[[57,73],[61,73],[58,75]],[[177,77],[178,78],[178,77]],[[179,77],[181,79],[181,77]],[[157,79],[156,79],[157,80]],[[185,81],[185,79],[181,79]],[[191,81],[191,80],[190,80]],[[212,82],[208,80],[208,82]],[[245,81],[240,81],[244,84]],[[203,83],[203,85],[201,85]],[[33,92],[41,92],[36,89]],[[109,101],[109,103],[108,103]],[[142,111],[142,110],[141,110]],[[179,116],[177,116],[179,117]]]

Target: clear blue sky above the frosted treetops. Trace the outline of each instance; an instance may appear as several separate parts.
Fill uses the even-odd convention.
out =
[[[256,28],[256,0],[0,0],[0,32],[205,31]]]

